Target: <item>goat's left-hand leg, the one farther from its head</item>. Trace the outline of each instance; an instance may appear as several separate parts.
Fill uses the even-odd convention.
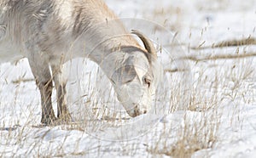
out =
[[[32,57],[34,57],[34,55],[28,58],[28,61],[41,94],[41,122],[46,125],[52,124],[56,120],[56,117],[51,104],[53,84],[49,64],[42,61],[42,59]]]

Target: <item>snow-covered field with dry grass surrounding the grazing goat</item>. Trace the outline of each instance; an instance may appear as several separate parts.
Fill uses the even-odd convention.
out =
[[[73,123],[41,127],[27,60],[4,63],[0,157],[255,156],[256,42],[239,40],[256,38],[256,0],[106,3],[128,29],[150,34],[163,50],[154,110],[130,118],[96,64],[76,59],[67,64]]]

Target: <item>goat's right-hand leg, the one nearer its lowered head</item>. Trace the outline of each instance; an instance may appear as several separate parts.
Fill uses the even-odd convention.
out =
[[[61,73],[63,70],[62,65],[51,65],[51,69],[57,93],[58,119],[61,122],[71,121],[72,117],[67,110],[67,79],[63,78]]]

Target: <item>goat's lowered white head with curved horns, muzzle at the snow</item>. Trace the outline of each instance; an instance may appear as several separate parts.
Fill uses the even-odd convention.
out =
[[[132,33],[143,41],[145,50],[121,47],[118,54],[122,55],[122,61],[119,61],[119,66],[110,79],[119,102],[129,116],[135,117],[151,109],[160,80],[160,69],[157,68],[157,54],[153,43],[139,31]]]

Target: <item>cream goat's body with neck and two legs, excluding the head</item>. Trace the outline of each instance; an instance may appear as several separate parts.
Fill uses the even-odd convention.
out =
[[[0,2],[0,62],[28,59],[41,93],[44,123],[55,121],[50,100],[52,79],[57,89],[58,117],[69,116],[61,65],[76,57],[101,65],[119,46],[140,48],[102,0]]]

